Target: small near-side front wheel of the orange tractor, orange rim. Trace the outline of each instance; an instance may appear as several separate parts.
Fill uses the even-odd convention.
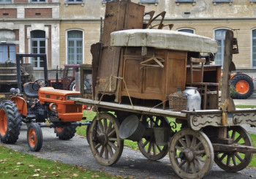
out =
[[[42,130],[38,123],[31,123],[29,126],[27,140],[31,151],[40,151],[42,148]]]

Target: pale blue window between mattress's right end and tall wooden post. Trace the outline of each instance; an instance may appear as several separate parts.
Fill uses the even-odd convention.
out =
[[[218,52],[215,56],[215,64],[223,65],[226,29],[215,31],[215,39],[218,41]]]

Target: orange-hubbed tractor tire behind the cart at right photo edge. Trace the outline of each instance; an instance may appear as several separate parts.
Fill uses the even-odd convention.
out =
[[[247,99],[254,91],[252,78],[247,75],[236,75],[231,80],[231,85],[233,85],[236,88],[236,91],[238,91],[235,99]]]

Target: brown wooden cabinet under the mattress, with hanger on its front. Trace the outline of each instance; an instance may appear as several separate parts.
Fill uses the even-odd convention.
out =
[[[164,59],[163,68],[155,61],[151,65],[140,64],[155,56]],[[121,80],[122,96],[131,96],[137,99],[157,99],[164,102],[169,94],[178,89],[184,91],[186,82],[187,52],[177,50],[159,50],[148,48],[147,55],[141,56],[141,47],[124,47],[121,50],[121,64],[119,75]]]

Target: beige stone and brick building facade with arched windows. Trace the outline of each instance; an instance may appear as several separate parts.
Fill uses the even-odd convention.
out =
[[[99,42],[100,18],[108,0],[0,0],[0,62],[15,53],[46,53],[48,69],[63,64],[91,64],[91,44]],[[222,64],[225,31],[234,31],[239,53],[236,69],[256,76],[255,0],[132,0],[165,24],[219,42],[215,64]],[[145,16],[148,20],[148,16]],[[159,22],[157,18],[155,24]],[[165,27],[167,28],[167,26]],[[9,50],[7,50],[9,48]],[[7,51],[10,52],[8,55]],[[40,60],[31,59],[34,69]]]

